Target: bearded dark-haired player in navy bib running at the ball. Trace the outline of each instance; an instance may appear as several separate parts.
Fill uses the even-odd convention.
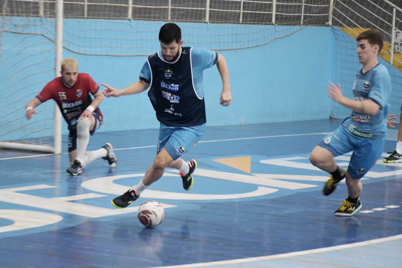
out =
[[[230,94],[229,72],[224,56],[204,48],[182,47],[181,30],[174,23],[166,23],[159,32],[160,51],[148,57],[139,81],[117,90],[106,84],[106,97],[137,94],[150,88],[148,96],[160,122],[157,155],[142,180],[111,203],[125,208],[153,182],[162,177],[165,168],[180,171],[183,188],[193,186],[195,160],[185,162],[180,156],[193,147],[205,131],[205,102],[203,71],[216,64],[222,78],[220,104],[228,106]],[[185,175],[183,175],[185,174]]]

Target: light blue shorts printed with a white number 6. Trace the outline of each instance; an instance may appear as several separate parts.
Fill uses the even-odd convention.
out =
[[[330,151],[334,156],[353,150],[348,172],[354,179],[362,178],[375,164],[384,151],[386,138],[365,139],[357,137],[340,126],[326,135],[318,146]]]

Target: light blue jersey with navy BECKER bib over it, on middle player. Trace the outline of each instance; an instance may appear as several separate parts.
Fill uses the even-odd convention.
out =
[[[174,62],[161,53],[148,57],[139,79],[151,84],[148,96],[158,121],[167,126],[193,127],[206,123],[203,71],[218,60],[215,51],[182,47]]]

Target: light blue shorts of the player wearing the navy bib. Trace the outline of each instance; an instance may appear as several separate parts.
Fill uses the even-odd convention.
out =
[[[169,127],[161,123],[156,153],[165,148],[173,160],[178,159],[197,144],[205,133],[205,127],[206,124],[195,127]]]

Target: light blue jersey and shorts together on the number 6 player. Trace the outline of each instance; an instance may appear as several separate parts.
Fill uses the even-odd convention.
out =
[[[353,151],[348,172],[354,179],[362,178],[384,151],[387,101],[391,93],[391,78],[384,65],[377,64],[364,74],[361,70],[357,71],[353,84],[353,97],[355,100],[372,100],[380,109],[375,115],[353,111],[337,129],[318,143],[334,156]]]

